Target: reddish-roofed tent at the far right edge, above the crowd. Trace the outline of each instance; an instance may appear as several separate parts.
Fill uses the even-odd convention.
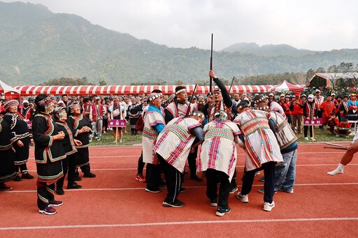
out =
[[[327,87],[332,89],[338,79],[356,80],[358,73],[316,73],[310,78],[306,87]]]

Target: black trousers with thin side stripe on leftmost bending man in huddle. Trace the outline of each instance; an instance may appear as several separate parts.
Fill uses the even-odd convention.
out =
[[[164,202],[175,202],[178,199],[180,187],[182,184],[182,173],[179,172],[172,165],[167,163],[162,156],[157,154],[160,164],[162,165],[162,170],[164,172],[166,188],[168,189],[168,194]]]

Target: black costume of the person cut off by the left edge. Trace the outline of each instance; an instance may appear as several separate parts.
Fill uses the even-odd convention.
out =
[[[10,133],[10,126],[0,117],[0,191],[10,190],[11,188],[3,183],[14,179],[17,175],[13,141],[14,136]]]

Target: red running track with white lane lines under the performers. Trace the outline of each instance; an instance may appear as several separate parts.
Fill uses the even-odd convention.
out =
[[[141,147],[90,147],[97,177],[80,181],[82,189],[56,195],[64,204],[53,216],[38,214],[35,179],[8,182],[13,190],[0,193],[0,237],[357,237],[358,163],[354,159],[344,174],[332,177],[327,171],[336,168],[344,151],[323,147],[299,144],[294,193],[278,192],[271,212],[262,209],[257,177],[250,202],[230,195],[231,213],[223,217],[210,207],[205,181],[188,175],[187,191],[179,195],[185,207],[162,207],[166,189],[147,193],[145,184],[134,179]],[[240,149],[238,178],[243,163]],[[28,167],[36,173],[33,157]]]

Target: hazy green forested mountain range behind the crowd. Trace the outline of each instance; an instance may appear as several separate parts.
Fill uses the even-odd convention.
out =
[[[324,39],[322,39],[324,40]],[[358,63],[358,49],[315,52],[290,45],[238,43],[213,52],[222,78],[306,72],[341,62]],[[131,84],[208,79],[210,50],[167,47],[91,24],[77,15],[52,13],[41,4],[0,2],[0,80],[41,84],[61,77]]]

